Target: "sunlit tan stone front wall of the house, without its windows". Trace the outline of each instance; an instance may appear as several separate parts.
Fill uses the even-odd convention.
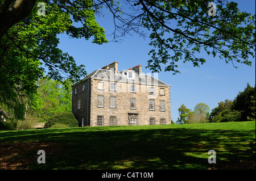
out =
[[[103,90],[98,89],[98,82],[104,84]],[[116,83],[115,91],[110,91],[110,83]],[[135,85],[135,92],[130,92],[131,85]],[[154,94],[149,93],[150,87],[154,87]],[[160,89],[164,89],[164,95],[159,95]],[[112,116],[115,116],[115,125],[129,125],[129,115],[137,116],[137,125],[149,125],[150,118],[155,119],[155,124],[160,124],[160,119],[165,119],[166,124],[171,124],[170,86],[91,79],[91,92],[90,126],[97,126],[98,116],[103,116],[104,126],[110,125]],[[97,106],[98,95],[104,96],[103,107]],[[110,108],[110,96],[115,96],[115,108]],[[130,108],[131,98],[135,98],[135,109]],[[150,110],[150,99],[155,102],[153,111]],[[164,111],[160,111],[160,100],[164,100]],[[76,108],[74,107],[74,109]],[[82,110],[84,109],[82,108]]]

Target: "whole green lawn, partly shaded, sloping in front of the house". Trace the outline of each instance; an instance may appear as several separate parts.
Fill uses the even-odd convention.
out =
[[[255,121],[2,131],[0,152],[2,169],[255,169]]]

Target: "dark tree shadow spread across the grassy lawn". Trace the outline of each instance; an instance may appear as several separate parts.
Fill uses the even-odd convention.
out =
[[[234,169],[226,165],[236,163],[242,166],[238,169],[255,169],[255,131],[77,128],[6,133],[3,142],[54,141],[63,146],[59,153],[46,151],[46,164],[35,159],[25,169]],[[216,151],[216,164],[208,163],[209,150]]]

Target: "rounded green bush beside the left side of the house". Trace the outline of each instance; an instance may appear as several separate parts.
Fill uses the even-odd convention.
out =
[[[69,128],[79,126],[79,122],[72,112],[59,112],[52,115],[44,127],[51,128],[55,124],[67,125]]]

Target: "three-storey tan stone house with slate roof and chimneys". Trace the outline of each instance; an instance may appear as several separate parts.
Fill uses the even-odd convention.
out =
[[[118,71],[115,61],[72,86],[72,112],[80,127],[171,124],[170,87],[141,65]]]

